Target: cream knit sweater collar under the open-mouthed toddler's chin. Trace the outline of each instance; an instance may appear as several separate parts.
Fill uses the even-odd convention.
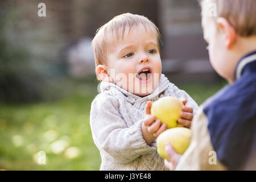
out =
[[[148,96],[145,96],[145,97],[136,96],[135,94],[127,92],[126,90],[122,89],[118,85],[115,85],[112,82],[106,82],[106,81],[101,82],[100,90],[101,90],[101,93],[104,92],[104,91],[108,91],[108,90],[112,90],[114,92],[115,91],[116,92],[121,92],[126,97],[133,98],[133,100],[139,100],[139,99],[154,100],[155,98],[158,98],[160,93],[164,92],[164,90],[166,90],[168,88],[169,83],[170,82],[169,82],[168,78],[162,74],[161,77],[160,77],[158,87],[155,88],[155,90],[151,94],[149,94]]]

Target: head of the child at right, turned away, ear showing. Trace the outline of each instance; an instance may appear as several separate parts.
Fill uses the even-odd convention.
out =
[[[256,49],[255,0],[202,0],[202,26],[210,63],[234,82],[234,70],[246,53]]]

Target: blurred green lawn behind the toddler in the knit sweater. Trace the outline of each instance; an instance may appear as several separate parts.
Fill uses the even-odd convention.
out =
[[[97,83],[75,80],[64,82],[60,100],[27,105],[0,104],[0,169],[8,170],[98,170],[100,152],[92,140],[89,125],[90,104],[97,95]],[[198,104],[212,96],[225,82],[177,84]],[[59,154],[52,143],[64,140],[68,146]],[[79,155],[67,158],[67,148]],[[46,152],[46,165],[35,159]]]

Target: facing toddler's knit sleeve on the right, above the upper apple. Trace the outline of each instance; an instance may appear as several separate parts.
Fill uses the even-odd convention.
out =
[[[193,98],[191,98],[189,96],[189,94],[187,92],[185,92],[184,90],[180,90],[174,84],[170,84],[168,89],[170,89],[171,92],[174,93],[174,95],[177,98],[179,98],[179,99],[180,98],[185,98],[187,100],[186,106],[192,107],[193,108],[193,114],[194,115],[196,114],[196,111],[199,109],[199,106],[196,104],[196,102],[193,100]]]

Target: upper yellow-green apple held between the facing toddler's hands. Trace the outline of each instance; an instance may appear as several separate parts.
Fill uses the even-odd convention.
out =
[[[177,120],[180,118],[181,108],[184,104],[179,98],[173,96],[162,97],[152,103],[151,114],[162,123],[167,124],[167,129],[177,127]],[[179,127],[182,125],[179,125]]]

